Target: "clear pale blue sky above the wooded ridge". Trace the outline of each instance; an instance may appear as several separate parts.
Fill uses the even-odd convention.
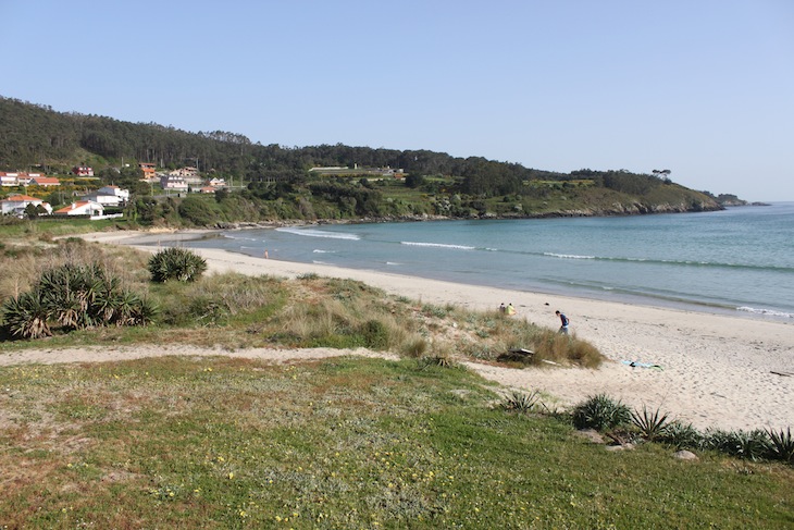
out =
[[[0,0],[58,111],[794,200],[794,1]]]

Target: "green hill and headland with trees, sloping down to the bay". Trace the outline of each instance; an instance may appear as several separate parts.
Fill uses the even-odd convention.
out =
[[[101,174],[102,170],[121,168],[123,162],[150,162],[161,170],[189,164],[203,175],[225,177],[238,185],[250,183],[249,187],[261,183],[306,186],[318,178],[308,171],[315,167],[399,168],[409,176],[408,187],[422,189],[424,186],[423,190],[429,194],[446,193],[458,202],[468,200],[468,207],[460,209],[463,215],[609,214],[721,208],[710,194],[672,183],[669,172],[581,170],[566,174],[429,150],[340,144],[264,146],[229,132],[188,133],[156,123],[58,112],[0,96],[0,171],[36,170],[58,175],[66,174],[75,164],[87,164]],[[438,185],[434,178],[447,181]],[[334,199],[342,193],[323,187],[327,188],[327,178],[313,189],[315,195],[325,194]],[[492,208],[483,202],[491,199],[503,200],[505,208]]]

